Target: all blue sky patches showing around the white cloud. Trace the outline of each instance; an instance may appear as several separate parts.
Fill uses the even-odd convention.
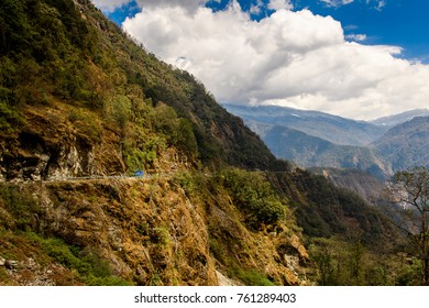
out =
[[[206,6],[213,10],[224,10],[230,0],[210,1]],[[267,3],[268,0],[262,2]],[[334,3],[333,1],[332,3]],[[339,1],[341,2],[341,1]],[[348,1],[345,1],[346,3]],[[239,0],[243,10],[249,11],[257,0]],[[403,48],[409,59],[429,63],[429,1],[427,0],[354,0],[346,4],[329,4],[322,0],[293,1],[294,10],[309,9],[320,15],[331,15],[340,21],[345,35],[365,35],[364,44],[386,44]],[[141,11],[135,1],[130,1],[106,14],[118,24]],[[252,19],[261,20],[272,10],[263,8]],[[352,36],[350,36],[352,40]]]

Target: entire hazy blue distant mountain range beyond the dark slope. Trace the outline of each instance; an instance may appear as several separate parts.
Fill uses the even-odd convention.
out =
[[[241,117],[277,157],[302,167],[355,168],[384,179],[429,162],[427,109],[364,122],[274,106],[224,107]]]

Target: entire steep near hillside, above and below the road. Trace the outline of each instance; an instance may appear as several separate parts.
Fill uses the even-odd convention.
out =
[[[0,16],[0,285],[306,285],[315,237],[343,253],[397,238],[90,1],[4,0]]]

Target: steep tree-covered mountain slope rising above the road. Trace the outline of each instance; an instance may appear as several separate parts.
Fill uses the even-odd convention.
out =
[[[260,139],[189,74],[145,53],[101,12],[89,10],[89,1],[75,3],[2,2],[13,20],[4,21],[0,45],[2,130],[8,132],[0,142],[3,177],[15,177],[7,166],[23,160],[22,176],[33,178],[155,168],[151,152],[168,145],[206,164],[261,169],[276,164]],[[163,138],[151,135],[151,129]],[[105,134],[110,136],[100,139]],[[125,153],[117,152],[116,162],[102,162],[102,153],[121,146]],[[84,150],[77,151],[80,157],[76,148]],[[148,166],[131,166],[142,157]],[[80,166],[68,168],[73,160]]]

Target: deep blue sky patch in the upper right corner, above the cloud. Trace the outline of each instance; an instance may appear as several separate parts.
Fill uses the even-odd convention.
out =
[[[364,33],[367,36],[365,44],[397,45],[404,48],[405,57],[428,62],[429,1],[385,0],[384,7],[380,9],[377,2],[366,3],[366,0],[361,0],[327,8],[317,0],[302,0],[299,6],[308,6],[318,14],[332,15],[341,21],[345,33]],[[356,29],[348,30],[353,26]]]

